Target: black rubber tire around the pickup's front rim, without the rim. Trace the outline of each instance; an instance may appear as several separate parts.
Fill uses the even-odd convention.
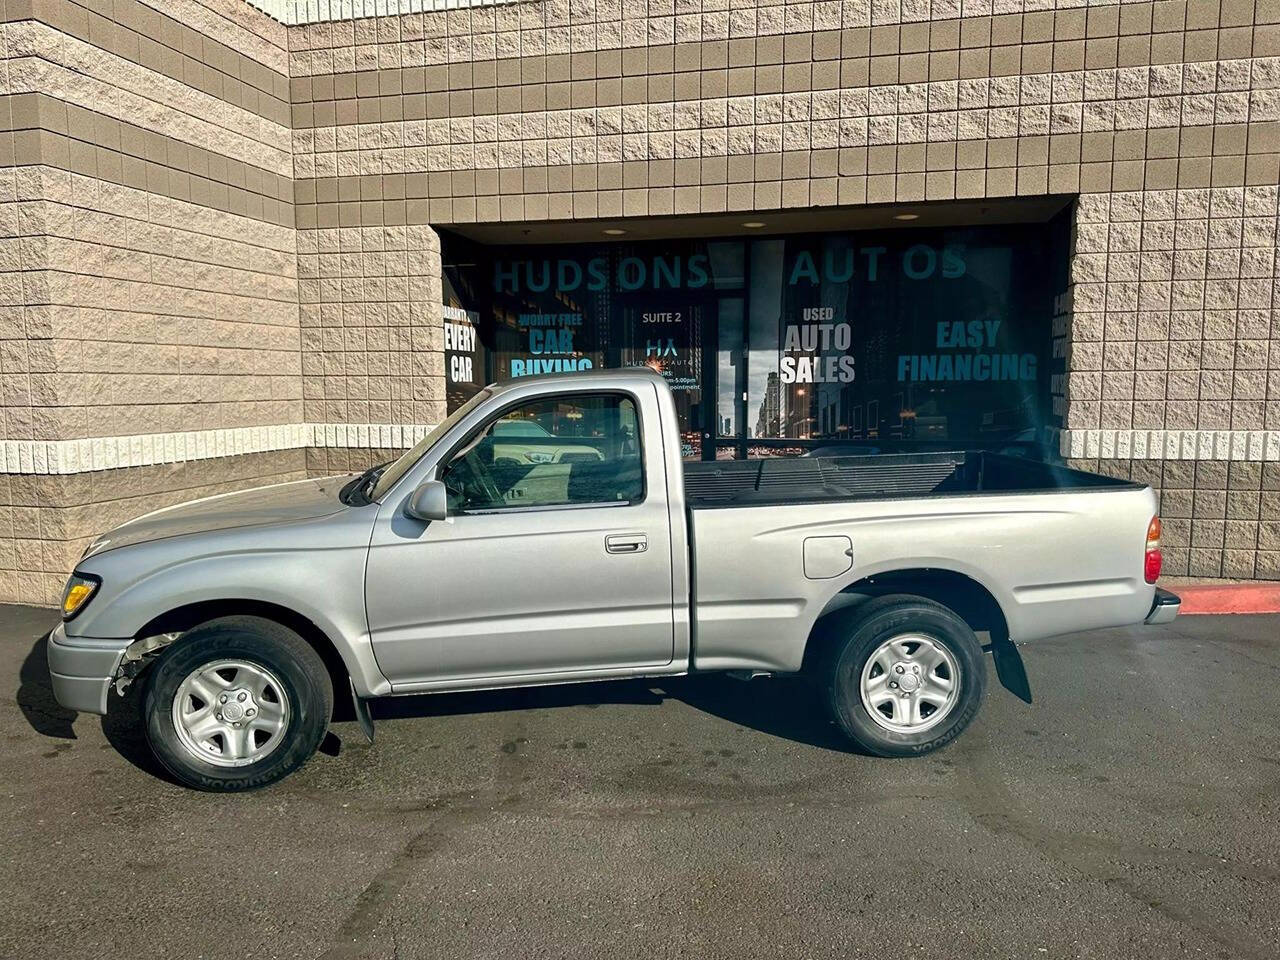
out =
[[[265,667],[288,698],[279,742],[241,767],[197,756],[183,744],[173,718],[183,681],[198,667],[224,659]],[[287,777],[320,746],[333,716],[333,684],[320,655],[288,627],[261,617],[223,617],[188,630],[160,655],[147,672],[142,710],[152,753],[178,781],[218,792],[257,790]]]

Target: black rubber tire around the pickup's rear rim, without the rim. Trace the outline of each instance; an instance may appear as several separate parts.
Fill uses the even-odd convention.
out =
[[[868,600],[856,614],[847,632],[836,639],[823,666],[827,708],[841,732],[876,756],[920,756],[960,736],[978,716],[987,689],[986,658],[969,625],[942,604],[909,594]],[[886,728],[872,717],[860,692],[868,660],[886,640],[900,634],[931,639],[950,652],[959,667],[954,705],[920,732]],[[872,668],[873,673],[876,669]]]

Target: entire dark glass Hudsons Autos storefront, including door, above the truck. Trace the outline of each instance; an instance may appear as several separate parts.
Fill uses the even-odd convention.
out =
[[[534,247],[448,237],[449,403],[490,380],[643,365],[675,392],[686,457],[1038,440],[1048,234],[1033,224]]]

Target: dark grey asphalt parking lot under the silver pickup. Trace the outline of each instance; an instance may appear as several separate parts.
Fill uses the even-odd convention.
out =
[[[4,957],[1274,957],[1280,618],[1024,648],[916,760],[705,677],[380,705],[262,792],[152,768],[0,607]]]

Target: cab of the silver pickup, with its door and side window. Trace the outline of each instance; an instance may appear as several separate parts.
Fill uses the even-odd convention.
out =
[[[525,428],[518,462],[506,456],[512,424],[545,434]],[[366,603],[393,689],[685,672],[675,424],[648,372],[516,381],[403,476],[380,477]],[[445,509],[424,524],[411,498],[428,481]]]

